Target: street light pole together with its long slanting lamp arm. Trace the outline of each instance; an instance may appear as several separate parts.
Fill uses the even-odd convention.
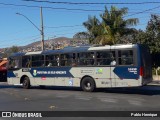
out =
[[[43,27],[43,13],[42,13],[42,7],[40,9],[40,19],[41,19],[41,29],[39,29],[27,16],[21,14],[21,13],[16,13],[17,15],[21,15],[24,18],[26,18],[38,31],[40,31],[41,34],[41,43],[42,43],[42,51],[44,50],[44,27]]]

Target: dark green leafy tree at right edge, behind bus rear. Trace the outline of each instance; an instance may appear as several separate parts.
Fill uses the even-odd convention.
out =
[[[152,54],[152,65],[157,68],[160,66],[160,16],[151,15],[146,28],[145,44],[150,48]]]

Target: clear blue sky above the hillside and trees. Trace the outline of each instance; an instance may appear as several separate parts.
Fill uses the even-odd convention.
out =
[[[37,0],[38,1],[38,0]],[[0,48],[13,45],[23,46],[40,41],[40,31],[36,29],[21,13],[30,19],[40,29],[40,8],[43,10],[45,40],[57,37],[72,38],[77,32],[87,31],[82,25],[88,16],[97,16],[103,13],[104,6],[110,9],[111,5],[118,8],[128,7],[128,14],[124,19],[138,18],[136,29],[145,30],[151,14],[160,14],[159,0],[39,0],[48,2],[33,2],[24,0],[0,0]],[[51,2],[77,3],[115,3],[115,4],[53,4]],[[148,4],[116,4],[116,3]],[[75,10],[81,9],[81,10]],[[88,11],[91,10],[91,11]]]

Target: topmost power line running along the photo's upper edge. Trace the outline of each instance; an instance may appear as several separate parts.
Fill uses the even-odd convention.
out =
[[[70,4],[70,5],[106,5],[106,4],[158,4],[160,2],[105,2],[105,3],[93,3],[93,2],[52,2],[52,1],[48,1],[48,0],[22,0],[22,1],[31,1],[31,2],[45,2],[45,3],[52,3],[52,4]]]

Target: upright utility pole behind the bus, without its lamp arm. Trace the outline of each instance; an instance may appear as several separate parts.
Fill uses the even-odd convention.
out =
[[[40,9],[40,15],[41,15],[41,44],[42,44],[42,51],[44,50],[44,27],[43,27],[43,12],[42,7]]]

